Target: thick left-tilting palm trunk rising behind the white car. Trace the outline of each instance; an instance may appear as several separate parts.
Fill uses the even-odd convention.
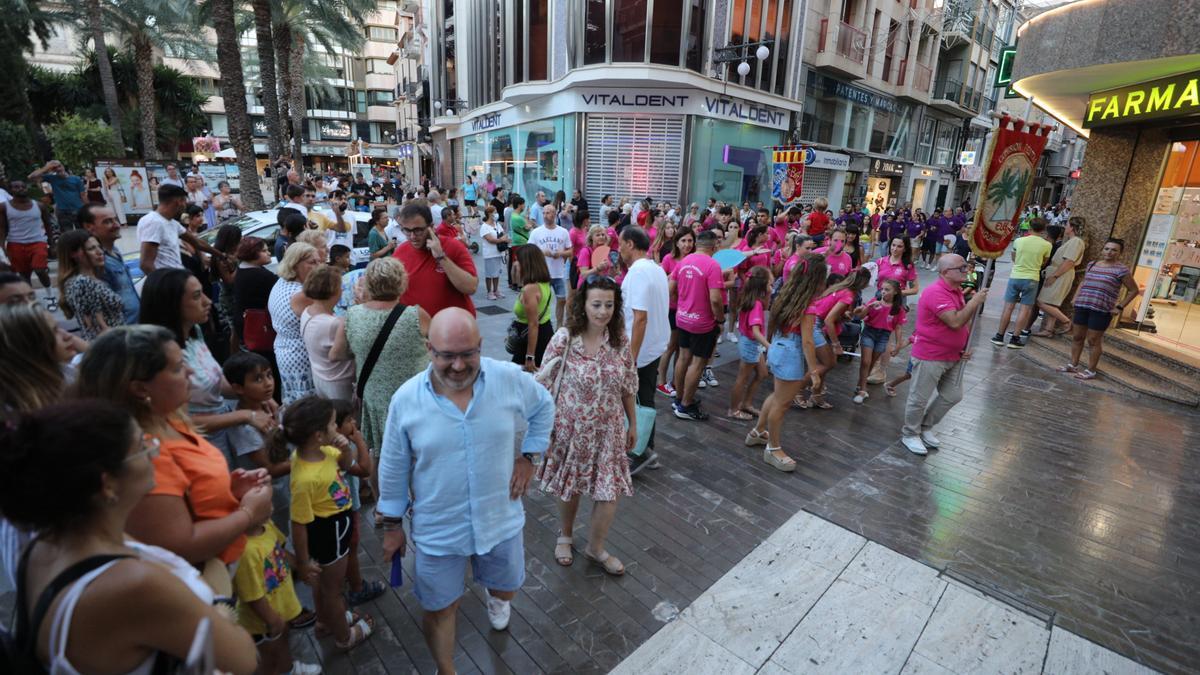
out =
[[[229,144],[238,155],[241,201],[247,209],[263,208],[263,191],[258,189],[258,165],[254,162],[254,139],[246,107],[246,82],[241,71],[240,32],[234,19],[234,0],[209,0],[212,30],[217,34],[217,68],[221,70],[221,96],[224,98],[229,124]]]

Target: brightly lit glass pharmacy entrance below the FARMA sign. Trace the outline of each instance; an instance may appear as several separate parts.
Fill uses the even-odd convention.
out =
[[[1200,141],[1171,145],[1134,279],[1144,288],[1138,336],[1200,362]]]

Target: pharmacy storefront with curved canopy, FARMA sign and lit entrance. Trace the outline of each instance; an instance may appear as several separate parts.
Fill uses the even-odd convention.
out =
[[[1200,364],[1200,32],[1139,30],[1145,16],[1194,22],[1170,0],[1109,11],[1118,4],[1072,4],[1025,24],[1014,88],[1088,137],[1070,202],[1088,222],[1086,259],[1106,238],[1123,239],[1140,288],[1118,336]],[[1147,43],[1151,35],[1159,42]]]

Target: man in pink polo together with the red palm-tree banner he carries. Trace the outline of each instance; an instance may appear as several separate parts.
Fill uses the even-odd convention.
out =
[[[956,255],[942,256],[937,281],[920,294],[912,348],[913,383],[905,405],[900,441],[924,455],[940,441],[932,426],[962,398],[962,362],[970,358],[974,318],[988,297],[992,267],[1016,234],[1016,221],[1033,184],[1034,168],[1045,148],[1049,126],[1028,125],[1008,115],[992,136],[974,221],[965,233],[976,257],[988,268],[979,289],[966,300],[962,285],[971,267]]]

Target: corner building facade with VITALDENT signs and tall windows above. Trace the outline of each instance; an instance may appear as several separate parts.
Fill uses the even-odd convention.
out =
[[[436,180],[524,196],[770,202],[799,113],[803,0],[438,0]],[[762,43],[720,62],[716,49]]]

